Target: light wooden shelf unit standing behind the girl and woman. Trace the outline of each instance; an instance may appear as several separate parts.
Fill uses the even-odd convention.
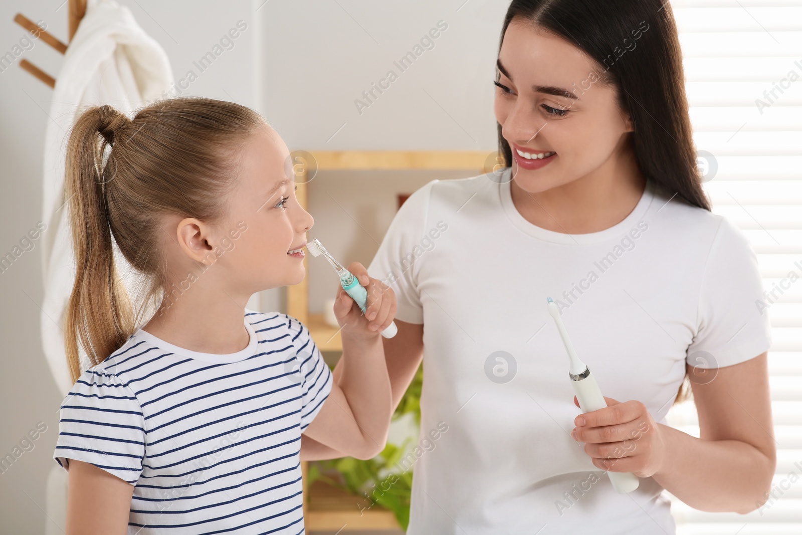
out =
[[[487,168],[495,160],[490,152],[478,151],[342,151],[311,152],[311,158],[318,172],[334,169],[382,170],[382,169],[431,169],[473,171],[476,174],[489,172]],[[489,162],[489,163],[488,163]],[[308,181],[308,162],[298,161],[294,166],[295,192],[298,203],[306,209],[307,194],[311,182]],[[303,259],[304,266],[307,257]],[[307,269],[307,274],[309,273]],[[294,316],[309,327],[312,339],[320,351],[342,351],[342,338],[339,330],[329,326],[322,314],[309,313],[309,282],[307,278],[295,286],[287,287],[287,314]],[[320,481],[311,488],[306,484],[307,462],[302,462],[304,476],[304,517],[307,531],[342,530],[342,533],[368,529],[398,529],[395,516],[378,505],[370,510],[360,511],[359,496],[353,496]],[[368,505],[367,503],[365,505]],[[338,532],[340,533],[340,532]]]

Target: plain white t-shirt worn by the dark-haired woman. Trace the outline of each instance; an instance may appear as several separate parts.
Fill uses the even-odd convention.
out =
[[[609,229],[541,229],[512,204],[509,173],[420,188],[368,269],[395,290],[396,317],[424,326],[429,446],[407,535],[674,533],[653,478],[618,494],[570,437],[581,411],[546,298],[602,394],[664,424],[686,362],[724,367],[771,345],[755,253],[730,221],[651,182]]]

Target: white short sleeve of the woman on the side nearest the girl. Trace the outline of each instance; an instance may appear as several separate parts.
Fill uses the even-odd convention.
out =
[[[423,306],[415,278],[415,260],[425,251],[421,245],[429,208],[431,180],[404,201],[384,235],[367,273],[390,286],[398,308],[395,317],[402,322],[423,323]]]

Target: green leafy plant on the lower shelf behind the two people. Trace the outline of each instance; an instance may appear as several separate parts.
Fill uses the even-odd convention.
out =
[[[423,366],[418,368],[415,378],[404,393],[398,408],[393,414],[393,421],[412,414],[415,424],[420,427],[420,392],[423,387]],[[415,437],[416,438],[416,437]],[[366,509],[379,505],[392,511],[402,529],[409,525],[409,507],[412,492],[412,470],[399,471],[396,464],[403,457],[407,445],[413,437],[408,437],[403,444],[391,444],[373,459],[358,460],[353,457],[341,459],[318,460],[309,464],[307,472],[308,484],[315,480],[342,488],[354,496],[367,497],[371,501]],[[394,469],[395,468],[395,469]],[[332,477],[330,472],[338,472]]]

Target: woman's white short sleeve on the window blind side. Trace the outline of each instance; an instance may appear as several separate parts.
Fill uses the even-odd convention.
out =
[[[765,304],[757,256],[743,233],[722,217],[703,271],[687,363],[726,367],[768,351],[772,334]]]

